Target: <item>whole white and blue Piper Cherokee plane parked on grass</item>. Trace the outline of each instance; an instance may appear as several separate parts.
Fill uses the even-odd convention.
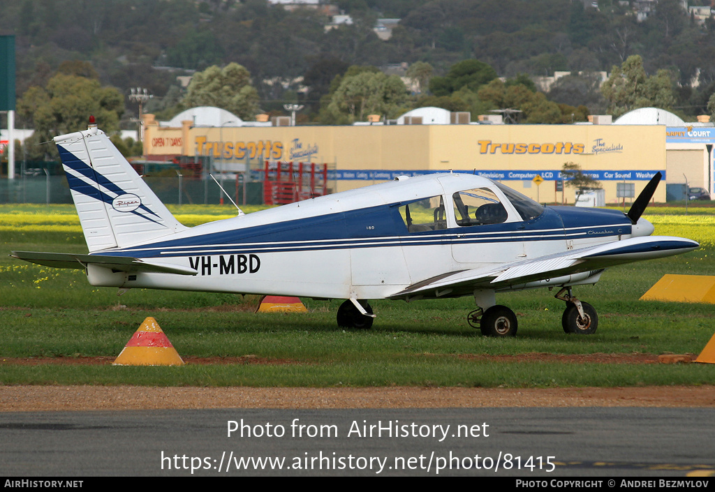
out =
[[[345,299],[343,327],[370,328],[370,299],[473,295],[468,322],[484,335],[516,334],[496,292],[559,287],[566,333],[596,331],[596,310],[572,295],[606,267],[699,247],[651,236],[641,218],[661,174],[628,214],[543,207],[473,174],[398,177],[196,227],[180,224],[96,124],[55,137],[89,255],[13,252],[21,260],[83,268],[104,287]]]

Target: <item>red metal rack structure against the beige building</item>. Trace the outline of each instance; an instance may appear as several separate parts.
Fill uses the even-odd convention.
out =
[[[265,163],[263,201],[266,205],[285,205],[322,195],[327,195],[327,164]]]

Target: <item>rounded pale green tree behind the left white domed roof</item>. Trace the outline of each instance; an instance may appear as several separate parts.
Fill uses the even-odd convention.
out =
[[[216,65],[194,74],[182,107],[215,106],[253,119],[258,112],[258,92],[251,85],[251,74],[237,63],[221,69]]]

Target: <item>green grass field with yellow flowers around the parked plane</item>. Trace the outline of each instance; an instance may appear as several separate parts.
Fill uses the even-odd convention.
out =
[[[247,212],[252,209],[247,210]],[[232,217],[231,207],[172,208],[186,225]],[[715,383],[715,365],[504,362],[474,355],[699,353],[715,331],[715,306],[638,300],[666,273],[715,275],[715,209],[651,207],[656,235],[690,237],[699,250],[607,270],[575,293],[599,314],[598,333],[565,335],[563,302],[546,289],[498,295],[517,313],[516,338],[484,338],[458,300],[371,302],[372,330],[337,328],[341,301],[304,299],[307,314],[253,313],[257,297],[92,287],[80,270],[14,260],[11,250],[86,252],[71,205],[0,205],[0,383],[138,385],[628,386]],[[267,363],[181,368],[21,365],[2,358],[115,357],[153,316],[184,357]]]

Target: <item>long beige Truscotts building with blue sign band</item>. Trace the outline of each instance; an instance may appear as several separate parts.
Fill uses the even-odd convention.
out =
[[[504,182],[540,202],[573,203],[570,187],[556,191],[563,164],[574,162],[601,182],[606,205],[634,195],[656,172],[664,182],[712,190],[709,130],[664,124],[373,124],[355,126],[205,127],[186,120],[160,126],[145,115],[147,159],[207,156],[213,172],[259,169],[265,162],[328,163],[335,191],[400,174],[474,172]],[[707,131],[707,135],[705,132]],[[676,135],[676,137],[673,137]],[[619,185],[619,183],[621,185]],[[631,198],[626,198],[626,203]],[[654,196],[666,201],[661,184]]]

